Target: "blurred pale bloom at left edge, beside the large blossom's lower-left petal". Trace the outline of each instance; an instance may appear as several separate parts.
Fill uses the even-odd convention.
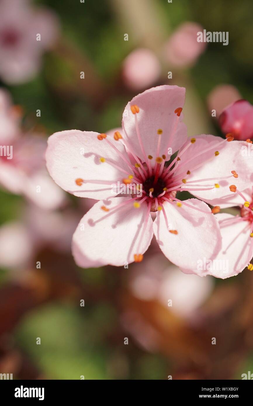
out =
[[[28,205],[18,221],[0,226],[0,268],[31,266],[35,253],[46,245],[70,251],[78,220],[71,209],[57,212]]]

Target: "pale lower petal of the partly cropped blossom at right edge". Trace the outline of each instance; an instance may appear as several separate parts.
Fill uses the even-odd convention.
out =
[[[218,221],[225,220],[226,218],[234,218],[234,216],[227,213],[216,214],[215,217]],[[212,263],[211,269],[207,274],[216,276],[216,278],[226,279],[239,274],[248,265],[247,257],[251,238],[249,236],[249,223],[249,227],[245,230],[247,223],[246,221],[241,221],[227,225],[227,227],[221,226],[222,248],[214,258],[217,262],[215,264]],[[231,245],[229,246],[229,244]],[[253,248],[251,248],[251,258],[252,257]],[[214,268],[218,269],[216,270]]]

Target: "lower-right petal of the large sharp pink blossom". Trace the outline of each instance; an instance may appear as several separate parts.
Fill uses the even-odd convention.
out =
[[[208,205],[197,199],[185,202],[201,210],[210,210]],[[187,269],[188,273],[198,274],[199,258],[212,258],[221,247],[221,234],[215,216],[184,207],[184,204],[178,207],[175,203],[167,203],[164,209],[169,229],[177,230],[177,234],[167,230],[160,211],[154,221],[154,234],[162,252],[175,265]]]

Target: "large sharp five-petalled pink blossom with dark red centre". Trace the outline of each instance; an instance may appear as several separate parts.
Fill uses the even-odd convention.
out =
[[[184,100],[184,88],[158,86],[127,104],[122,134],[67,130],[48,139],[46,161],[54,181],[75,196],[99,200],[73,236],[79,266],[139,262],[153,234],[171,262],[193,273],[199,258],[220,250],[217,220],[199,199],[222,199],[232,179],[238,188],[248,187],[253,164],[231,136],[187,138]],[[247,175],[238,177],[242,166]],[[112,190],[117,181],[142,192],[123,196]],[[176,194],[182,190],[199,199],[180,201]],[[154,222],[151,212],[157,213]]]

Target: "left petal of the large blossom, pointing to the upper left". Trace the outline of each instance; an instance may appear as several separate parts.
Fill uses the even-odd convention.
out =
[[[105,199],[112,197],[112,186],[117,181],[122,181],[130,174],[130,168],[123,161],[106,140],[99,141],[97,132],[67,130],[57,132],[48,139],[46,152],[47,168],[54,181],[64,190],[79,197],[91,199]],[[109,137],[111,143],[122,153],[128,155],[120,141]],[[106,158],[120,166],[127,173],[111,166],[108,162],[100,162]],[[83,179],[86,183],[81,186],[76,184],[76,179]],[[95,184],[88,181],[105,181]]]

